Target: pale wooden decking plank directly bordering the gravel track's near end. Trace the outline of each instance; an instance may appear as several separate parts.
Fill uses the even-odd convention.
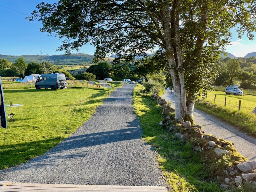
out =
[[[13,183],[12,186],[32,186],[32,187],[65,187],[65,188],[102,188],[102,189],[153,189],[165,190],[163,186],[130,186],[130,185],[76,185],[76,184],[45,184],[45,183]]]

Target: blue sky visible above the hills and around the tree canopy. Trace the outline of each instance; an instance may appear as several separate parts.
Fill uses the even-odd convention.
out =
[[[47,53],[49,55],[63,54],[56,49],[61,45],[61,40],[39,31],[42,24],[38,21],[32,23],[25,18],[35,10],[36,5],[43,0],[0,0],[0,54],[3,55],[25,55]],[[54,3],[56,0],[44,0],[46,3]],[[16,11],[7,9],[5,7]],[[249,41],[246,35],[242,39],[237,39],[234,30],[232,45],[227,46],[226,51],[237,57],[243,57],[247,53],[256,52],[256,40]],[[254,33],[256,37],[256,33]],[[93,55],[95,48],[85,45],[79,53]],[[73,52],[77,53],[77,52]]]

